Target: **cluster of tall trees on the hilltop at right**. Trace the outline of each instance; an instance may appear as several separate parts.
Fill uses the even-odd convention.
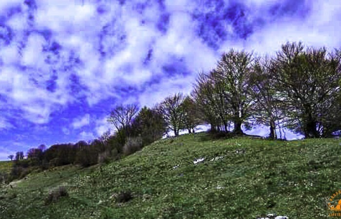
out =
[[[242,124],[279,124],[305,138],[330,137],[341,129],[341,52],[287,43],[274,58],[229,51],[201,73],[192,98],[212,130],[242,133]]]

